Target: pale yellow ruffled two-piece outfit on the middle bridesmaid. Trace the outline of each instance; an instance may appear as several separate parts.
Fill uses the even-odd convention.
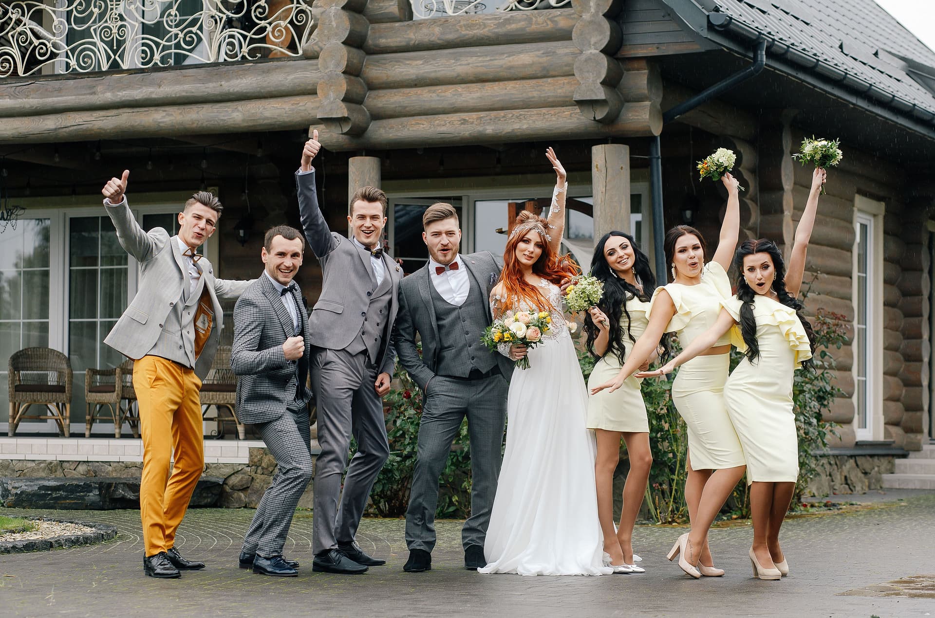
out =
[[[682,347],[708,330],[721,312],[721,301],[731,297],[730,280],[717,262],[704,266],[696,285],[669,283],[657,288],[646,317],[652,315],[660,290],[669,293],[675,315],[666,326],[667,333],[677,333]],[[714,346],[730,343],[730,335]],[[679,367],[672,382],[672,402],[688,427],[688,456],[694,470],[716,470],[743,466],[743,449],[734,425],[727,416],[724,384],[730,370],[730,354],[696,356]]]

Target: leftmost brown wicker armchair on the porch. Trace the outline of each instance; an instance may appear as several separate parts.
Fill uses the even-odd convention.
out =
[[[50,348],[26,348],[9,357],[9,435],[23,419],[54,419],[68,438],[71,414],[71,362]],[[48,414],[26,415],[30,406],[45,406]]]

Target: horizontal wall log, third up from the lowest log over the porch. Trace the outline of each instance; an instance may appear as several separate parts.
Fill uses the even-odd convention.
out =
[[[369,56],[361,78],[381,90],[568,77],[579,53],[571,42],[387,53]]]

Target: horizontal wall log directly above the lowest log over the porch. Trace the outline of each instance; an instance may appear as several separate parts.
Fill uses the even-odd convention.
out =
[[[374,120],[502,109],[571,106],[573,77],[371,90],[364,107]],[[319,86],[322,88],[322,86]]]

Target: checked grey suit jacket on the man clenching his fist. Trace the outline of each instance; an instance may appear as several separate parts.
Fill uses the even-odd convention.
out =
[[[301,290],[296,292],[301,298]],[[242,423],[267,423],[280,418],[295,401],[296,381],[302,386],[302,403],[311,399],[306,388],[311,350],[309,314],[302,303],[297,309],[305,352],[298,360],[290,361],[282,352],[282,344],[295,336],[295,324],[273,282],[261,276],[237,300],[231,368],[240,376],[237,419]]]

